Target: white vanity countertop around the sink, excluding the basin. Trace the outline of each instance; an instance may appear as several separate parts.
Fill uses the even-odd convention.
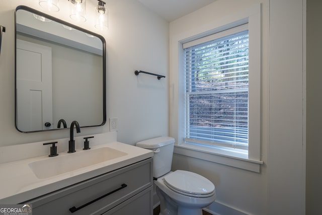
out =
[[[51,159],[48,155],[0,164],[0,203],[21,203],[37,196],[153,157],[153,152],[150,150],[122,144],[117,141],[91,146],[91,149],[103,147],[122,151],[127,153],[127,155],[44,179],[37,178],[29,167],[29,164],[35,161]],[[76,150],[75,153],[84,153],[84,151]],[[67,154],[67,152],[59,153],[58,156],[64,154]]]

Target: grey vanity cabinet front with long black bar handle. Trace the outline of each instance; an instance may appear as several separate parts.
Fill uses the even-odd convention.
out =
[[[32,204],[34,215],[148,215],[153,210],[152,185],[149,158],[23,203]]]

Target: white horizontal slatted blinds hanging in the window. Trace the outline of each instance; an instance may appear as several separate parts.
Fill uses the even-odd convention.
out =
[[[248,149],[248,25],[184,44],[187,142]]]

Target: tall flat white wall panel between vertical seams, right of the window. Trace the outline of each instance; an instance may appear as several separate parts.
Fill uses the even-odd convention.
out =
[[[269,214],[305,213],[305,5],[269,6]]]

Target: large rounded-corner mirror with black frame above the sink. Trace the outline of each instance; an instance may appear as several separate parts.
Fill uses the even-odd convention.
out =
[[[106,45],[101,35],[26,6],[16,23],[16,128],[56,130],[106,122]]]

